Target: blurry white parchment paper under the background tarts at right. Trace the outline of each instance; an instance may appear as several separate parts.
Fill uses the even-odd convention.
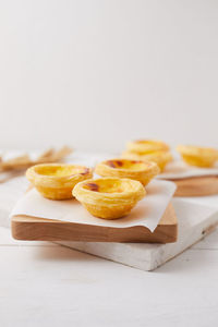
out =
[[[204,175],[218,175],[218,164],[213,168],[198,168],[187,166],[182,160],[174,160],[168,164],[165,171],[157,178],[164,180],[175,180]]]

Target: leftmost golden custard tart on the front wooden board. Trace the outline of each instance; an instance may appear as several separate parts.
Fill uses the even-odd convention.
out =
[[[28,168],[26,177],[44,197],[68,199],[73,197],[75,184],[90,179],[93,173],[78,165],[41,164]]]

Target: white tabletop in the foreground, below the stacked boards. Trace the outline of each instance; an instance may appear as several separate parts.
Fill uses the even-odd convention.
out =
[[[217,326],[218,231],[153,272],[0,228],[0,326]]]

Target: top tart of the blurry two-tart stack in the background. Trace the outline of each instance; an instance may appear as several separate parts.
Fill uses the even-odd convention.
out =
[[[169,146],[162,141],[155,140],[138,140],[129,142],[126,149],[136,154],[149,154],[153,152],[168,152]]]

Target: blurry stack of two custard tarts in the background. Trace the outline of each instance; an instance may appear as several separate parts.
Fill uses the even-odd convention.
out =
[[[158,165],[160,172],[165,170],[168,162],[172,161],[169,146],[155,140],[140,140],[130,142],[126,150],[122,153],[122,158],[142,161],[154,161]]]

